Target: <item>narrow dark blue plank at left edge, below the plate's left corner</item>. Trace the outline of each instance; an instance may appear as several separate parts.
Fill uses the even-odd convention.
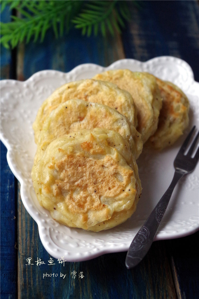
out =
[[[16,298],[16,178],[7,164],[6,153],[1,142],[1,298]]]

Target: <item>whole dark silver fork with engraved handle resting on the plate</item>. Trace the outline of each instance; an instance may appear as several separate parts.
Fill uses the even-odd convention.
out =
[[[155,234],[158,230],[160,222],[164,216],[166,208],[168,206],[169,200],[171,198],[172,192],[175,185],[185,174],[190,173],[194,170],[198,159],[199,159],[199,147],[195,156],[192,158],[192,153],[198,140],[199,132],[196,135],[194,141],[192,142],[189,151],[184,155],[186,148],[189,144],[189,140],[194,132],[195,126],[189,132],[189,135],[185,139],[183,145],[181,146],[177,156],[174,160],[175,173],[169,188],[166,190],[158,204],[153,209],[152,213],[149,215],[148,219],[135,235],[129,250],[127,252],[127,257],[125,265],[127,269],[135,267],[140,261],[145,257],[149,248],[152,245]]]

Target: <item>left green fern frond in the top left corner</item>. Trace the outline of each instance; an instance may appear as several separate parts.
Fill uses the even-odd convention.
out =
[[[5,0],[4,0],[5,1]],[[26,2],[26,3],[24,3]],[[45,34],[49,28],[53,28],[55,37],[63,34],[64,27],[69,30],[71,19],[79,12],[81,1],[9,1],[10,9],[17,9],[21,18],[12,16],[13,22],[1,23],[1,43],[5,48],[10,45],[14,48],[18,42],[26,40],[29,42],[33,37],[34,42],[40,37],[44,40]],[[73,12],[73,13],[72,13]],[[70,16],[70,22],[65,19]],[[62,20],[62,22],[60,22]],[[61,23],[61,32],[58,24]],[[5,37],[6,35],[6,37]]]

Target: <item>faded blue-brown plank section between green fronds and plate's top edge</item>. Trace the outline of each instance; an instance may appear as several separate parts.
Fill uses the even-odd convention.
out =
[[[84,37],[75,29],[58,40],[48,32],[44,43],[21,44],[17,55],[18,80],[27,80],[35,72],[45,69],[68,72],[82,63],[108,66],[125,58],[121,36],[96,39]]]

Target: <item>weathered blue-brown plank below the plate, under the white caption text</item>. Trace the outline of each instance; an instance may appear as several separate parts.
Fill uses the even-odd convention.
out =
[[[19,198],[19,202],[20,202]],[[101,257],[79,263],[48,265],[50,256],[44,250],[38,236],[37,225],[19,203],[19,213],[23,214],[24,223],[18,231],[18,298],[154,298],[176,299],[175,288],[166,257],[165,242],[155,242],[145,259],[128,271],[124,266],[126,252],[105,254]],[[20,215],[18,216],[20,218]],[[32,226],[32,230],[31,230]],[[28,234],[30,231],[30,236]],[[30,250],[28,252],[28,250]],[[32,257],[27,264],[27,258]],[[35,261],[41,258],[45,265],[36,266]],[[71,272],[77,276],[72,279]],[[84,277],[78,274],[83,272]],[[58,274],[47,277],[43,274]],[[65,278],[60,273],[66,274]]]

